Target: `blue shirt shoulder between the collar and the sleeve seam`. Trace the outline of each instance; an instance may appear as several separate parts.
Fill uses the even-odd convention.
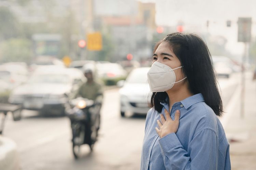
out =
[[[193,121],[197,123],[195,133],[201,132],[205,129],[210,129],[217,135],[218,118],[210,106],[205,102],[199,102],[192,105],[189,110],[191,116],[193,116]]]

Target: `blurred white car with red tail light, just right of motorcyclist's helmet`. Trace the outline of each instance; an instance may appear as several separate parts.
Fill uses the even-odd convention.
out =
[[[97,71],[99,78],[105,85],[115,85],[119,80],[125,80],[127,71],[117,63],[98,63]]]

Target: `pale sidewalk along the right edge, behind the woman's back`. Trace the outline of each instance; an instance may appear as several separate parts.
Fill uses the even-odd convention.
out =
[[[244,117],[240,116],[240,97],[226,124],[232,170],[256,169],[256,82],[246,74]]]

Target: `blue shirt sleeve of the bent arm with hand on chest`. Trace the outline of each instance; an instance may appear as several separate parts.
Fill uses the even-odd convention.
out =
[[[195,134],[187,149],[190,155],[175,133],[159,139],[159,145],[167,170],[216,170],[218,167],[218,138],[210,128]]]

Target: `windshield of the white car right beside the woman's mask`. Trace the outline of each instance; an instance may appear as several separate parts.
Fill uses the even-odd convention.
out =
[[[133,70],[126,79],[126,83],[147,83],[148,69]]]

